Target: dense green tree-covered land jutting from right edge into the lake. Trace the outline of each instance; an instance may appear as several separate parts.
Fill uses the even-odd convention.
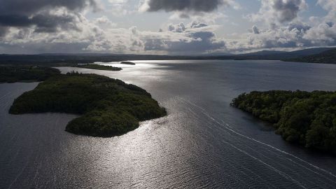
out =
[[[274,123],[288,142],[336,153],[336,92],[251,92],[231,105]]]

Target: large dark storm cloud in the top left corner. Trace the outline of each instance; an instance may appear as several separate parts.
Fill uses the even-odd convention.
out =
[[[94,0],[0,0],[0,5],[1,27],[36,26],[39,32],[56,31],[57,27],[69,28],[76,19],[76,11],[86,6],[97,8]],[[66,11],[53,14],[57,8]]]

